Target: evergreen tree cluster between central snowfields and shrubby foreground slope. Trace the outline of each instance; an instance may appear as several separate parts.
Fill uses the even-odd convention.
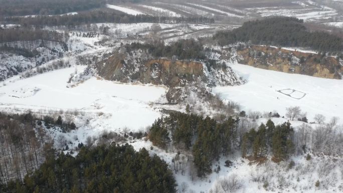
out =
[[[191,149],[199,177],[212,172],[212,162],[221,155],[241,148],[243,157],[252,153],[253,158],[266,156],[271,150],[275,160],[286,159],[293,151],[293,128],[289,122],[275,126],[269,120],[266,125],[252,128],[239,137],[240,119],[229,117],[222,122],[194,114],[171,113],[159,118],[151,126],[149,139],[154,145],[165,148],[170,139],[177,148]],[[160,143],[163,141],[162,143]],[[162,144],[162,145],[160,145]]]

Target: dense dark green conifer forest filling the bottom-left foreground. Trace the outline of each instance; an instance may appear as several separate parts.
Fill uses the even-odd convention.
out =
[[[11,181],[5,192],[176,192],[165,161],[136,152],[131,145],[82,147],[76,157],[54,153],[24,183]],[[0,190],[1,191],[1,190]]]

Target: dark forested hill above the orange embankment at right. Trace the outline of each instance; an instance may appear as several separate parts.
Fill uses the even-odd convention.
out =
[[[324,32],[309,32],[303,21],[276,17],[250,21],[231,32],[219,32],[214,37],[220,45],[248,42],[287,47],[308,47],[319,51],[341,51],[343,40]]]

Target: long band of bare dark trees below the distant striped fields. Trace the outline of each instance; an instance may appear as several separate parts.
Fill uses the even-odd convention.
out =
[[[206,17],[155,17],[148,15],[127,15],[112,10],[96,10],[82,12],[77,15],[63,16],[36,16],[6,18],[8,23],[22,26],[79,26],[92,23],[214,23],[213,19]]]

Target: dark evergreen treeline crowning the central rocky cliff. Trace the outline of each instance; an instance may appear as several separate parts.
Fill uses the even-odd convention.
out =
[[[205,52],[203,45],[200,41],[194,39],[179,40],[170,45],[164,45],[163,42],[155,41],[153,44],[140,44],[131,43],[125,45],[126,51],[142,49],[148,51],[152,56],[160,58],[177,58],[179,60],[193,59],[203,60],[205,59]]]

